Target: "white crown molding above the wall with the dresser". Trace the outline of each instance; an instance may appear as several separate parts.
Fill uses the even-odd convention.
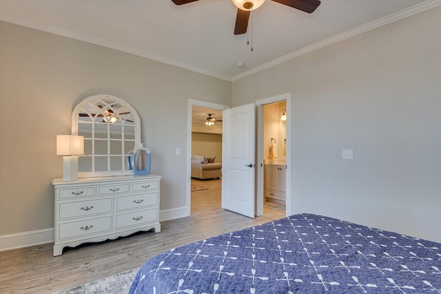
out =
[[[143,50],[138,50],[135,48],[131,48],[128,46],[124,46],[121,44],[117,44],[117,43],[111,43],[111,42],[107,42],[104,41],[102,39],[97,39],[95,37],[92,36],[88,36],[86,34],[75,34],[74,32],[70,32],[70,31],[66,31],[66,30],[54,30],[53,28],[48,28],[45,25],[38,25],[36,23],[32,23],[30,21],[24,21],[23,19],[19,19],[19,18],[15,18],[15,17],[9,17],[3,14],[0,14],[0,21],[6,21],[8,23],[14,23],[16,25],[22,25],[25,26],[27,28],[32,28],[34,30],[41,30],[43,32],[50,32],[52,34],[57,34],[59,36],[65,36],[71,39],[75,39],[75,40],[79,40],[79,41],[84,41],[87,43],[92,43],[94,45],[100,45],[103,46],[105,48],[110,48],[110,49],[114,49],[114,50],[118,50],[121,52],[125,52],[125,53],[129,53],[129,54],[134,54],[137,56],[141,56],[144,57],[146,59],[152,59],[154,61],[158,61],[161,63],[165,63],[168,65],[173,65],[176,67],[181,67],[184,70],[191,70],[192,72],[197,72],[199,74],[204,74],[205,76],[212,76],[214,78],[220,78],[222,80],[225,81],[232,81],[231,76],[225,76],[223,74],[219,74],[217,72],[210,72],[207,70],[204,70],[202,68],[199,67],[194,67],[192,65],[188,65],[186,63],[181,63],[179,61],[174,61],[172,59],[165,59],[161,56],[156,56],[154,54],[151,54],[147,51],[143,51]]]

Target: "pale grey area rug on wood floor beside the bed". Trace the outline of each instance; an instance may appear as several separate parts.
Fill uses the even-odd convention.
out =
[[[54,294],[121,294],[128,293],[139,268],[123,271],[110,277],[74,286]]]

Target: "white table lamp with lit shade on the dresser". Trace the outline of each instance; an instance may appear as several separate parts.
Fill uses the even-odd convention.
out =
[[[84,137],[57,135],[57,155],[63,156],[63,180],[78,180],[78,157],[84,154]]]

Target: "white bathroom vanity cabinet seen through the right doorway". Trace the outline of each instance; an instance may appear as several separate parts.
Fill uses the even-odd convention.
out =
[[[273,202],[285,203],[287,187],[287,166],[275,163],[265,164],[264,195]]]

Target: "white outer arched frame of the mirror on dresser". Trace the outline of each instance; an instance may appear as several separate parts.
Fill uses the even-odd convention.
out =
[[[95,104],[95,102],[99,100],[115,101],[115,103],[119,103],[123,105],[130,111],[131,114],[133,114],[134,137],[135,137],[134,148],[141,147],[141,119],[139,118],[138,112],[136,112],[134,107],[132,107],[130,103],[127,103],[127,101],[124,101],[123,99],[110,94],[96,94],[93,96],[89,96],[87,98],[84,98],[83,101],[81,101],[80,103],[78,103],[78,105],[75,106],[72,112],[72,135],[78,135],[79,133],[79,113],[83,110],[83,108],[86,105],[89,105],[90,103]],[[92,124],[93,123],[94,122],[92,122]],[[109,132],[107,132],[107,136],[109,136]],[[94,177],[103,177],[103,176],[127,176],[127,175],[133,175],[133,171],[132,170],[79,171],[78,173],[79,178],[94,178]]]

